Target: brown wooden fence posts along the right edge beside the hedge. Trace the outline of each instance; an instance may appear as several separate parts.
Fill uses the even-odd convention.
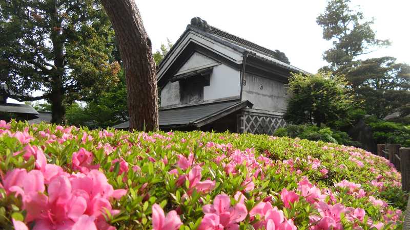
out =
[[[401,172],[401,188],[403,191],[410,192],[410,148],[402,148],[401,145],[378,144],[377,155],[387,158],[397,171]],[[407,201],[403,229],[410,230],[410,196]]]

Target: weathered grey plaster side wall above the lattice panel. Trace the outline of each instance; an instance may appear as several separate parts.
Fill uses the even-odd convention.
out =
[[[268,78],[245,74],[242,100],[253,103],[254,109],[285,112],[288,106],[285,84]],[[263,89],[260,89],[260,84]]]

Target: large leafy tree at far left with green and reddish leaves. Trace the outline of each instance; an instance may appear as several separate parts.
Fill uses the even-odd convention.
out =
[[[49,101],[52,122],[64,121],[64,104],[117,83],[114,52],[114,32],[99,1],[0,0],[0,83],[25,94],[2,93]]]

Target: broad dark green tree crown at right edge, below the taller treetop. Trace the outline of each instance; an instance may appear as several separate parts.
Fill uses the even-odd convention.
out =
[[[402,117],[410,111],[410,65],[381,57],[355,61],[343,72],[368,114],[383,119],[395,111]]]

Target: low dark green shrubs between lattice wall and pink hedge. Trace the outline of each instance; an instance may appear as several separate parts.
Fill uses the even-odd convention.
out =
[[[287,125],[278,128],[273,133],[274,136],[299,137],[310,141],[323,141],[346,146],[360,146],[360,143],[352,141],[346,132],[332,130],[329,127],[317,127],[314,125]]]

